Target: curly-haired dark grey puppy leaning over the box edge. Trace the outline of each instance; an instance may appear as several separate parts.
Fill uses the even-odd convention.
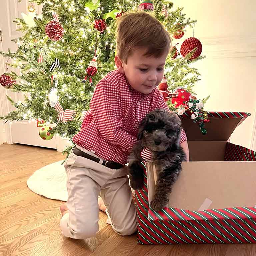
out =
[[[138,143],[129,156],[130,185],[133,189],[143,186],[141,151],[148,147],[152,161],[159,167],[156,194],[150,206],[155,211],[163,209],[169,201],[169,193],[181,171],[181,162],[186,154],[180,147],[181,121],[177,114],[165,109],[156,109],[141,121]]]

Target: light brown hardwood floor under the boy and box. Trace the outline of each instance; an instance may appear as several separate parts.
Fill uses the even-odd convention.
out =
[[[100,212],[100,232],[87,240],[61,235],[61,201],[29,190],[27,179],[37,169],[64,159],[52,149],[0,145],[0,256],[249,256],[256,244],[137,245],[136,235],[121,237]]]

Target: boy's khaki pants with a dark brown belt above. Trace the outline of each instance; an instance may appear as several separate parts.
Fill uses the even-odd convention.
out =
[[[94,155],[85,149],[83,151]],[[115,232],[131,235],[137,230],[137,214],[126,166],[110,169],[73,153],[64,166],[67,172],[69,209],[69,213],[60,221],[64,236],[86,239],[96,235],[99,230],[99,195],[108,208]]]

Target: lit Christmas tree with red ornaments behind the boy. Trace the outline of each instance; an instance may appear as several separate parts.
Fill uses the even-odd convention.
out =
[[[173,3],[161,0],[141,3],[137,0],[33,2],[43,4],[42,15],[36,14],[31,2],[28,15],[23,14],[23,19],[15,20],[24,33],[16,41],[17,51],[1,52],[9,57],[7,65],[20,69],[20,75],[7,72],[1,75],[0,83],[14,92],[24,92],[25,101],[14,102],[7,96],[16,110],[0,119],[38,119],[41,125],[46,126],[40,131],[41,138],[51,139],[58,133],[71,140],[80,130],[95,85],[115,69],[116,20],[128,11],[152,13],[170,32],[173,40],[182,43],[181,53],[176,46],[172,47],[166,61],[166,79],[159,89],[172,110],[183,113],[187,108],[184,108],[185,101],[190,100],[190,105],[195,103],[191,93],[195,94],[193,86],[200,80],[200,74],[190,64],[204,56],[200,56],[202,45],[198,39],[192,37],[182,41],[186,27],[192,27],[196,22],[185,18],[183,8],[172,10]],[[193,104],[190,107],[196,108]],[[201,120],[205,118],[201,117]],[[71,147],[66,152],[70,150]]]

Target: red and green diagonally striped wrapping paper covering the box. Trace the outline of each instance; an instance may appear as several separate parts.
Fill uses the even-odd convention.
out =
[[[240,118],[245,112],[208,112],[208,117]],[[181,118],[191,118],[186,111]],[[146,155],[145,155],[146,156]],[[256,152],[227,142],[226,161],[256,161]],[[164,208],[153,211],[148,204],[146,167],[144,186],[136,190],[138,244],[256,243],[256,208],[235,207],[189,211]]]

